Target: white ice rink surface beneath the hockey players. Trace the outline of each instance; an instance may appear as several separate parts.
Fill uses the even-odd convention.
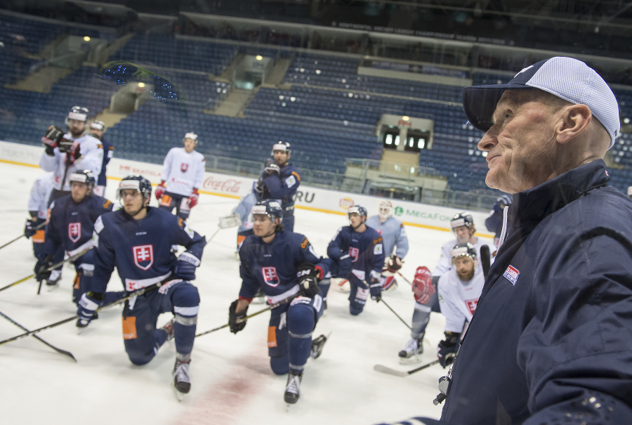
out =
[[[22,233],[27,218],[27,199],[32,182],[42,171],[14,164],[0,164],[0,244]],[[106,197],[114,200],[117,181],[108,181]],[[152,196],[152,205],[156,204]],[[192,209],[190,227],[209,237],[218,217],[230,214],[237,200],[200,195]],[[374,214],[376,211],[369,211]],[[325,255],[327,244],[344,216],[296,210],[297,233],[306,235],[317,254]],[[485,230],[483,223],[476,223]],[[412,281],[417,266],[434,268],[440,247],[454,237],[445,231],[406,228],[410,250],[402,274]],[[239,268],[235,256],[237,228],[220,230],[206,245],[195,285],[202,299],[197,332],[228,321],[228,306],[239,292]],[[492,240],[488,241],[492,247]],[[32,273],[32,244],[21,238],[0,250],[0,287]],[[36,329],[75,313],[71,301],[74,268],[64,268],[60,287],[43,288],[27,280],[0,292],[0,311],[28,329]],[[384,299],[410,322],[414,298],[401,277],[399,287]],[[121,290],[116,272],[108,290]],[[270,370],[266,346],[269,313],[251,318],[239,334],[221,329],[195,340],[190,375],[190,395],[178,403],[171,388],[175,360],[173,341],[160,349],[148,365],[129,362],[121,336],[121,306],[100,312],[99,320],[77,334],[74,320],[38,335],[50,344],[70,351],[72,362],[32,337],[0,346],[0,423],[13,424],[277,424],[333,425],[376,424],[399,421],[415,415],[438,418],[441,406],[433,405],[437,379],[445,374],[440,365],[395,377],[373,370],[381,364],[397,370],[412,370],[436,359],[445,320],[433,313],[424,340],[423,359],[400,365],[397,352],[409,339],[409,329],[383,303],[367,301],[364,312],[348,313],[348,294],[332,285],[329,309],[318,322],[314,335],[331,336],[322,356],[310,359],[301,384],[301,400],[287,409],[283,400],[286,376]],[[265,305],[251,304],[248,313]],[[158,325],[171,318],[162,315]],[[24,331],[0,318],[0,340]]]

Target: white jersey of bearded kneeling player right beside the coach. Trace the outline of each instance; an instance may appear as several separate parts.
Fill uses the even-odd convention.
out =
[[[476,268],[472,280],[466,282],[459,279],[454,268],[441,276],[437,289],[446,332],[463,332],[465,322],[472,320],[483,285],[485,278],[480,267]]]

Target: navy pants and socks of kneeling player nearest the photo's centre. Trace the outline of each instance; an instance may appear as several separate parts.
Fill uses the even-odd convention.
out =
[[[268,325],[270,367],[277,375],[303,372],[312,348],[312,331],[322,315],[322,298],[297,296],[272,309]]]

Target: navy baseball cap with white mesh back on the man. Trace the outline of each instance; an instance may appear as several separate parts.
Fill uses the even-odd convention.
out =
[[[480,131],[489,130],[496,104],[509,89],[540,89],[570,103],[586,105],[610,134],[610,148],[619,137],[617,98],[603,78],[581,60],[558,56],[526,67],[507,84],[466,87],[463,109],[470,124]]]

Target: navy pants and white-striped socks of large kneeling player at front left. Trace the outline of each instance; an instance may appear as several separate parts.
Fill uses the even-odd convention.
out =
[[[164,344],[167,334],[156,329],[158,316],[171,312],[176,316],[174,340],[180,360],[190,358],[195,339],[199,294],[187,280],[171,280],[157,290],[129,299],[123,310],[123,341],[129,360],[145,365]]]

